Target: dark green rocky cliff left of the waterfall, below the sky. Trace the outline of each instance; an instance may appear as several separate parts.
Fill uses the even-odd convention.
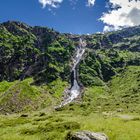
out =
[[[64,35],[20,22],[0,25],[0,81],[33,76],[36,83],[68,79],[72,41]],[[52,75],[53,73],[53,75]]]

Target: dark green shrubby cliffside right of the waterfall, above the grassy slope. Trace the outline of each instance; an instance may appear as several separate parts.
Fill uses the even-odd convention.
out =
[[[126,66],[140,66],[140,53],[115,48],[89,49],[79,67],[84,86],[100,86],[111,80]]]

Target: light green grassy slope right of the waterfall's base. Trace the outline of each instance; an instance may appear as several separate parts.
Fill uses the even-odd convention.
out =
[[[140,67],[129,66],[106,86],[85,89],[83,104],[97,111],[140,113]]]

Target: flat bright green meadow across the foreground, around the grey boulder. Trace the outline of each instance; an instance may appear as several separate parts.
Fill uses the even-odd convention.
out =
[[[0,116],[1,140],[64,140],[76,130],[104,132],[110,140],[139,140],[140,115],[63,110]]]

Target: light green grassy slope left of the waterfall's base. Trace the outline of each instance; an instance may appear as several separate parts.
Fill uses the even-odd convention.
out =
[[[57,79],[48,85],[33,85],[33,79],[1,82],[1,113],[38,110],[60,103],[67,82]]]

